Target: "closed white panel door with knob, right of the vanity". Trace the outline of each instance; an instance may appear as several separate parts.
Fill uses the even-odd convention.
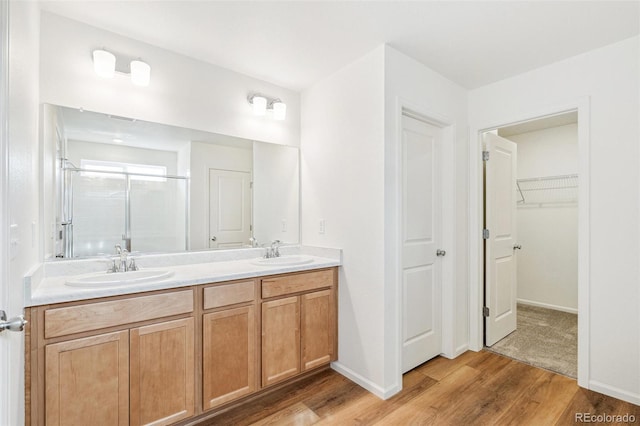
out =
[[[440,128],[402,117],[402,371],[442,352]]]

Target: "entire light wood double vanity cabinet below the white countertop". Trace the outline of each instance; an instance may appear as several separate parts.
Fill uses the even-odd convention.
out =
[[[326,366],[336,286],[330,268],[28,308],[27,423],[191,421]]]

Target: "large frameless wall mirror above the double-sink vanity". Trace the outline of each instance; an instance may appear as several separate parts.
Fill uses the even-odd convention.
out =
[[[296,147],[42,105],[44,257],[299,242]]]

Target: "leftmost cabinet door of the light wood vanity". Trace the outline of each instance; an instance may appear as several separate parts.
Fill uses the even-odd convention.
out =
[[[46,346],[48,426],[129,424],[129,332]]]

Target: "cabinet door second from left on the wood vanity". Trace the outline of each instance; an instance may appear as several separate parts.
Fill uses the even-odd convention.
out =
[[[193,318],[130,331],[131,424],[166,425],[191,417],[195,404]]]

